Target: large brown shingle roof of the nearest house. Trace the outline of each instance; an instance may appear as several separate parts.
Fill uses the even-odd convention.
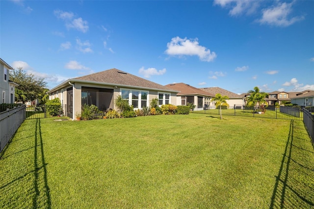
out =
[[[130,73],[113,68],[86,76],[68,79],[63,83],[59,84],[58,86],[52,88],[50,91],[48,91],[48,93],[51,93],[52,91],[67,86],[69,82],[95,83],[101,85],[112,85],[127,88],[140,88],[140,89],[145,88],[157,91],[168,91],[175,93],[178,92],[174,89],[168,88],[166,86],[160,85],[150,80],[140,78]]]

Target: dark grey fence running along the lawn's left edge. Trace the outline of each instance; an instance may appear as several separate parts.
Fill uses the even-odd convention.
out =
[[[0,152],[26,117],[25,105],[0,112]]]

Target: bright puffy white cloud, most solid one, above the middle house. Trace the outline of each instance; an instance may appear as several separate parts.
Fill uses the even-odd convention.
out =
[[[167,43],[167,50],[165,51],[168,55],[184,56],[184,55],[197,55],[201,61],[210,62],[213,61],[217,55],[215,52],[210,52],[206,47],[200,46],[198,39],[187,39],[174,37],[171,42]]]

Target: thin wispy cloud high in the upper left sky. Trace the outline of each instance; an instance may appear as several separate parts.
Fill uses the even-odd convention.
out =
[[[64,12],[62,10],[54,10],[54,15],[65,22],[65,26],[68,29],[74,28],[83,33],[88,31],[88,22],[83,20],[81,17],[74,18],[73,12]]]

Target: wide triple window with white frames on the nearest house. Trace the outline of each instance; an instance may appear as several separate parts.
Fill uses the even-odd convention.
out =
[[[148,92],[139,90],[121,90],[121,97],[124,100],[128,100],[129,104],[134,108],[142,108],[148,106]]]

